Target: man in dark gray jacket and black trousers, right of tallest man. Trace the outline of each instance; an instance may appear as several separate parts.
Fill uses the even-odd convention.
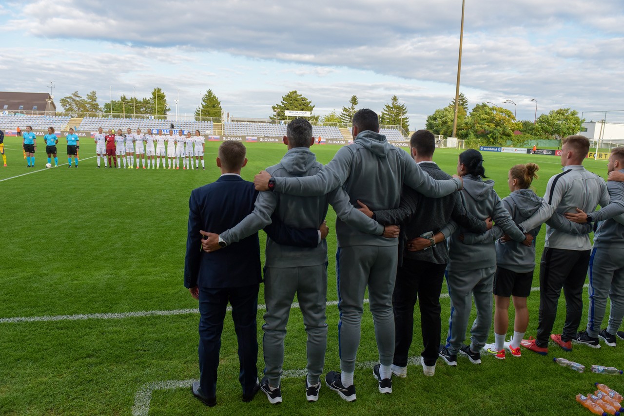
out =
[[[436,140],[429,130],[417,130],[409,141],[410,153],[417,165],[430,177],[447,180],[444,173],[433,162]],[[421,365],[424,375],[434,375],[441,339],[440,293],[444,271],[449,262],[446,244],[439,244],[450,235],[446,228],[449,221],[475,233],[483,233],[492,227],[492,221],[477,220],[468,213],[459,193],[442,198],[428,198],[403,186],[399,208],[384,211],[370,211],[360,203],[360,210],[372,216],[379,223],[401,224],[399,237],[399,268],[396,272],[396,286],[392,294],[394,311],[394,360],[392,375],[407,376],[407,353],[414,331],[414,306],[416,299],[421,312],[422,343]],[[445,234],[446,233],[446,234]],[[405,241],[408,241],[405,244]]]

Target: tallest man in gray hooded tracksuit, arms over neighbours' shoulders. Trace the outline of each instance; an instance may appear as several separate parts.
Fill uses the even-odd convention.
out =
[[[397,208],[401,186],[406,183],[426,196],[445,196],[462,186],[461,178],[437,181],[424,173],[416,162],[379,134],[378,115],[369,109],[353,116],[354,143],[338,150],[334,158],[313,176],[281,178],[270,173],[256,175],[258,190],[289,195],[319,196],[342,187],[351,204],[362,201],[371,210]],[[396,278],[397,240],[364,234],[339,218],[336,220],[338,251],[336,279],[340,321],[340,368],[325,377],[328,387],[347,401],[356,399],[353,375],[360,339],[364,292],[368,287],[369,305],[375,322],[380,364],[373,375],[381,393],[392,392],[394,357],[394,316],[392,291]]]

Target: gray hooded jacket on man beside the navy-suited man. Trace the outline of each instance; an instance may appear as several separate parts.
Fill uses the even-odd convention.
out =
[[[280,163],[266,168],[272,177],[305,177],[316,175],[323,165],[316,161],[316,156],[306,147],[288,150]],[[256,233],[271,223],[271,214],[276,211],[280,220],[292,228],[318,228],[327,215],[328,203],[334,207],[336,215],[354,230],[372,233],[380,239],[383,226],[356,210],[349,203],[349,196],[343,188],[336,188],[321,196],[293,196],[277,192],[260,192],[255,207],[250,215],[235,227],[220,236],[231,244]],[[366,234],[364,234],[366,235]],[[323,239],[314,248],[301,248],[278,244],[266,239],[266,266],[290,268],[296,266],[316,266],[327,261],[327,243]]]

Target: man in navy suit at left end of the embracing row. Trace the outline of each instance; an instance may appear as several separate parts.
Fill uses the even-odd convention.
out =
[[[213,253],[202,251],[200,234],[200,230],[222,233],[253,211],[258,193],[252,182],[240,177],[241,168],[247,163],[245,154],[242,143],[223,142],[217,157],[221,177],[193,190],[188,203],[184,286],[199,300],[200,310],[200,381],[193,383],[192,390],[195,397],[211,407],[217,404],[217,367],[228,302],[232,305],[238,339],[238,380],[243,386],[243,401],[253,399],[260,387],[256,368],[256,313],[262,281],[258,233]],[[265,231],[283,244],[316,246],[327,230],[289,230],[278,224]]]

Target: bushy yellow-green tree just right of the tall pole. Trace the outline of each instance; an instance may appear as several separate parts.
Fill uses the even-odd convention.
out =
[[[470,112],[467,134],[481,145],[504,146],[511,142],[517,146],[524,142],[522,135],[514,135],[520,128],[522,124],[515,120],[510,110],[482,103],[475,105]]]

